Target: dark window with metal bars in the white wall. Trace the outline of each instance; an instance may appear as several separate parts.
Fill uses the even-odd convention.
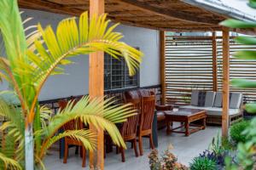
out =
[[[137,48],[138,49],[138,48]],[[125,59],[114,59],[111,55],[104,56],[104,88],[113,90],[120,88],[136,88],[139,86],[139,71],[129,76]]]

